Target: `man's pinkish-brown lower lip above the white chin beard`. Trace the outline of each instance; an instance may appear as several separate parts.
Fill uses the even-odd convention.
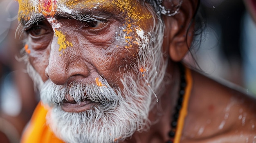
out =
[[[90,110],[92,106],[98,104],[92,101],[81,101],[80,105],[78,103],[62,103],[61,108],[66,112],[83,112]]]

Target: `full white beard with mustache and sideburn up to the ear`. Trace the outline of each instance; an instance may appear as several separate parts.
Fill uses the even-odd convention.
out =
[[[139,72],[137,75],[129,72],[121,80],[124,85],[122,90],[114,90],[102,78],[100,80],[105,86],[101,87],[76,82],[67,85],[68,87],[58,86],[50,79],[42,84],[40,76],[28,63],[31,77],[40,79],[36,83],[40,87],[41,100],[52,107],[47,114],[47,123],[56,136],[67,143],[112,143],[123,141],[135,131],[149,128],[148,114],[156,103],[154,95],[163,84],[167,65],[161,51],[163,39],[159,36],[163,35],[162,23],[156,24],[153,29],[156,29],[155,33],[141,37],[143,46],[139,51],[139,64],[134,70],[139,71],[141,66],[147,65],[144,77]],[[88,98],[99,104],[84,112],[65,112],[60,104],[67,93],[77,103]]]

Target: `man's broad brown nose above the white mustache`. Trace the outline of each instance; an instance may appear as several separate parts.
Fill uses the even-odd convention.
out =
[[[52,40],[49,64],[45,69],[46,76],[56,85],[68,84],[67,82],[72,82],[78,77],[88,77],[90,70],[79,49],[69,44],[59,51],[61,45],[57,38]]]

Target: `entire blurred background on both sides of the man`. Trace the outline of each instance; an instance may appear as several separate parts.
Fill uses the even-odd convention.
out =
[[[204,29],[200,38],[195,39],[198,47],[184,61],[255,96],[256,25],[243,1],[201,0],[201,3],[199,15]],[[19,142],[38,102],[25,64],[17,60],[24,46],[19,35],[15,38],[17,12],[18,2],[0,0],[0,143]]]

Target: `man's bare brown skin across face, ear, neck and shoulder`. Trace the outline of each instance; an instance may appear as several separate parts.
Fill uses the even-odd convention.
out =
[[[34,11],[31,2],[19,2],[23,4],[19,20],[27,33],[29,62],[43,81],[50,79],[56,85],[69,85],[73,81],[95,83],[95,78],[103,77],[112,88],[122,90],[121,79],[124,75],[127,72],[137,75],[139,69],[135,67],[141,45],[136,38],[141,37],[135,29],[151,32],[153,18],[156,18],[145,8],[145,5],[150,7],[147,3],[142,5],[135,0],[127,0],[125,6],[120,6],[122,2],[118,0],[103,0],[101,5],[98,5],[98,0],[74,0],[70,3],[49,0],[43,1],[46,4],[44,8]],[[51,4],[53,7],[49,6]],[[66,6],[62,7],[64,13],[58,10],[63,4]],[[157,95],[159,102],[149,112],[148,119],[154,124],[145,132],[135,132],[124,142],[163,143],[168,140],[167,133],[171,130],[169,123],[172,121],[180,82],[180,71],[175,62],[182,60],[193,40],[193,24],[191,27],[189,24],[195,9],[196,1],[184,0],[177,15],[162,15],[165,31],[164,35],[159,35],[163,38],[162,47],[159,48],[162,48],[164,60],[168,61],[165,79],[170,82],[160,89],[162,92]],[[80,21],[79,15],[69,15],[69,10],[103,19],[99,22]],[[137,11],[140,16],[136,14]],[[32,13],[41,13],[38,20],[33,20],[35,16]],[[29,22],[34,24],[27,26]],[[135,29],[130,29],[129,24]],[[124,37],[123,32],[130,37]],[[195,71],[192,71],[192,78],[193,88],[181,143],[256,141],[254,98]],[[90,106],[94,106],[94,103],[83,110],[89,110]],[[159,112],[161,114],[157,114]]]

